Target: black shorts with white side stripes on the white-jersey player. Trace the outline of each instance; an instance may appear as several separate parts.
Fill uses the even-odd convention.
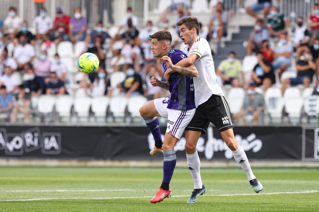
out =
[[[219,132],[234,128],[225,97],[212,94],[206,102],[196,108],[195,115],[185,130],[201,131],[205,134],[210,122]]]

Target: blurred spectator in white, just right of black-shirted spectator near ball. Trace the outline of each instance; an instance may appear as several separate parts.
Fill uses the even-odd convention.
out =
[[[126,64],[126,60],[123,54],[121,54],[122,44],[120,42],[115,42],[112,45],[113,57],[110,61],[110,68],[108,72],[118,72],[123,69],[123,65]]]

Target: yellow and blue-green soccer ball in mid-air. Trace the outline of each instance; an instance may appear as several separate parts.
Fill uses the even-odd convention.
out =
[[[99,59],[93,53],[84,53],[78,58],[78,68],[85,74],[94,73],[99,67]]]

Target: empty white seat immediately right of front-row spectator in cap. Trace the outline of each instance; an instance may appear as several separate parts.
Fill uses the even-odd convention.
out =
[[[281,118],[284,108],[284,99],[281,95],[280,88],[271,87],[265,92],[265,104],[271,118]]]

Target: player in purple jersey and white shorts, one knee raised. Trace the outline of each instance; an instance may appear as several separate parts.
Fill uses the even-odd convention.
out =
[[[186,58],[182,51],[171,48],[172,36],[170,32],[158,31],[150,35],[150,38],[152,38],[151,50],[154,57],[162,58],[163,56],[168,56],[171,62],[176,65]],[[163,60],[162,65],[164,72],[166,72],[168,67]],[[151,84],[169,90],[171,97],[155,99],[139,109],[155,140],[155,147],[150,154],[155,155],[159,152],[164,154],[163,181],[159,191],[150,201],[152,203],[161,202],[166,197],[171,196],[169,183],[176,165],[174,146],[181,138],[185,127],[192,120],[196,110],[192,77],[197,76],[197,69],[194,65],[184,68],[193,74],[185,76],[176,72],[170,75],[168,82],[159,81],[156,77],[152,77]],[[163,146],[161,145],[161,133],[157,116],[168,119]]]

